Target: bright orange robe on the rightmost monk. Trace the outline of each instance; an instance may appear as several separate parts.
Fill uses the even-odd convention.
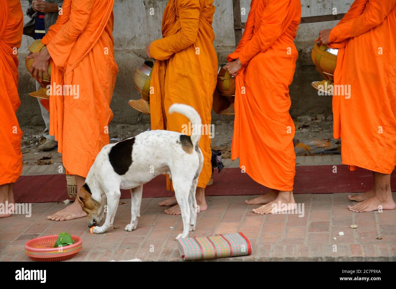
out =
[[[343,163],[392,173],[396,165],[396,0],[356,0],[330,33],[334,138]],[[348,94],[346,90],[348,90]]]

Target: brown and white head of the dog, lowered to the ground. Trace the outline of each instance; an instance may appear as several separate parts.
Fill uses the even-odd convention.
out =
[[[105,204],[102,198],[99,201],[94,200],[89,186],[84,184],[77,193],[77,200],[82,210],[87,213],[88,227],[99,226],[105,215]]]

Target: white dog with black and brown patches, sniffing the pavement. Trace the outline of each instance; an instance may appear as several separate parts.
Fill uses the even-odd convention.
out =
[[[195,190],[204,157],[198,143],[201,118],[192,107],[173,104],[169,113],[181,113],[192,123],[191,137],[175,131],[151,130],[106,145],[89,169],[85,185],[77,199],[88,216],[88,227],[96,226],[93,233],[104,233],[112,227],[120,200],[120,189],[131,190],[131,223],[125,231],[136,229],[140,217],[143,184],[155,176],[169,174],[177,203],[181,208],[185,238],[195,230],[198,206]],[[107,203],[105,223],[100,226]]]

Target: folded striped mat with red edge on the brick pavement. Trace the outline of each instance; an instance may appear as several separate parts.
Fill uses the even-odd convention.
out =
[[[212,237],[177,239],[179,253],[185,260],[200,260],[246,256],[251,254],[251,244],[243,233]]]

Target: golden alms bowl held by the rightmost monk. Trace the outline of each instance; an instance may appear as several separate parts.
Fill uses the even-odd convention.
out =
[[[314,62],[316,69],[323,76],[325,80],[330,80],[331,83],[334,81],[334,70],[337,64],[337,53],[338,49],[332,49],[320,41],[316,41],[314,48],[312,49],[312,61]]]

